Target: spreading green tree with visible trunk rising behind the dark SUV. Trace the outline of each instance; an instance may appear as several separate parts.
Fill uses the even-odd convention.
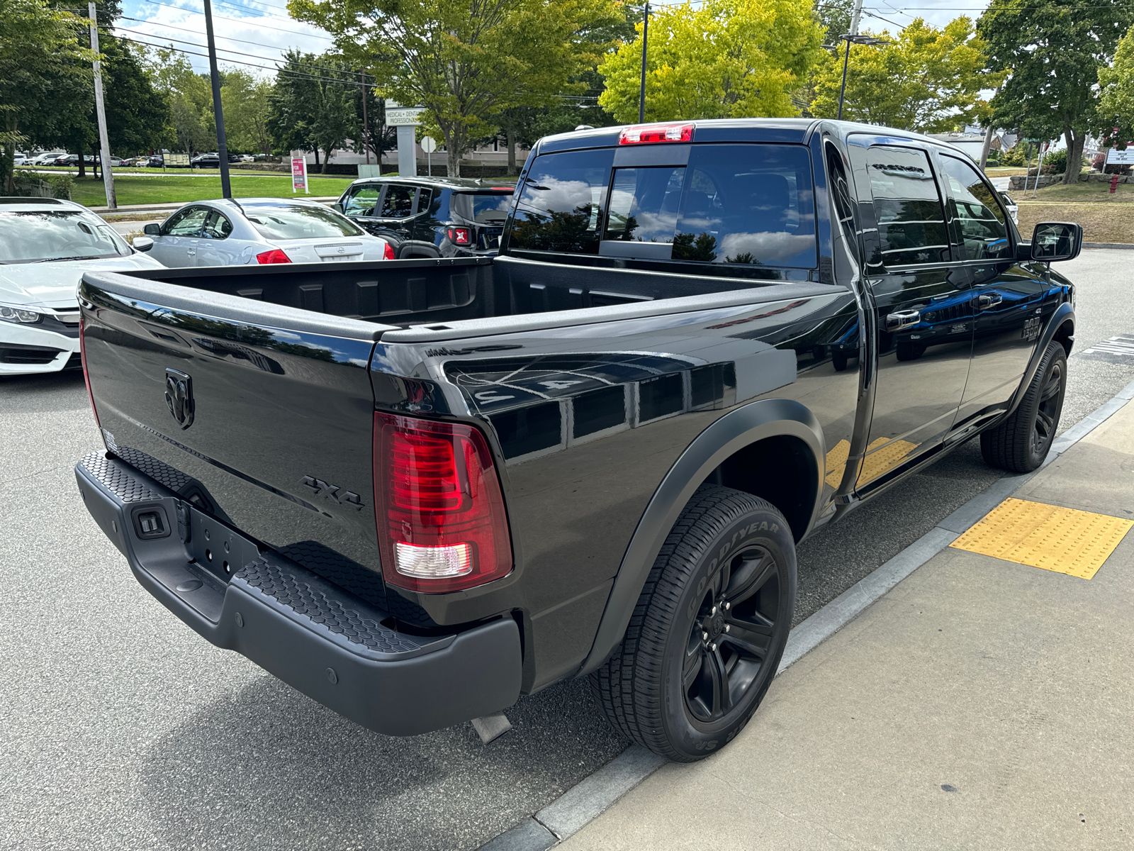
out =
[[[569,78],[598,60],[583,35],[621,19],[615,0],[289,0],[288,9],[332,33],[388,98],[425,107],[454,177],[502,110],[579,91]]]

